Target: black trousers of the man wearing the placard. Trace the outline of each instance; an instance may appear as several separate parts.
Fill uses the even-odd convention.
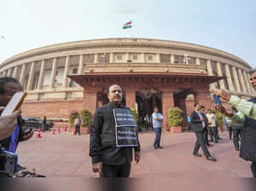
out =
[[[123,165],[102,165],[100,177],[130,177],[131,163]]]

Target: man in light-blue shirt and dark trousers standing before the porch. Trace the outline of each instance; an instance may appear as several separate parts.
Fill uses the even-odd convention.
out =
[[[163,120],[164,120],[163,115],[159,112],[158,107],[155,107],[154,113],[152,113],[153,128],[155,133],[154,144],[153,144],[154,149],[163,148],[160,146]]]

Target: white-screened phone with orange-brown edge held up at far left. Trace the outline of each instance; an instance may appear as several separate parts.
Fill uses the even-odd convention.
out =
[[[16,92],[14,96],[10,99],[7,106],[3,109],[3,112],[1,113],[1,116],[7,116],[11,113],[14,113],[16,110],[18,110],[22,104],[22,102],[25,100],[27,96],[26,92],[19,91]]]

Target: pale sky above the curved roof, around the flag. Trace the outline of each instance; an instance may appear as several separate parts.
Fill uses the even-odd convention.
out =
[[[0,62],[49,44],[132,37],[206,45],[256,67],[255,10],[253,0],[2,0]]]

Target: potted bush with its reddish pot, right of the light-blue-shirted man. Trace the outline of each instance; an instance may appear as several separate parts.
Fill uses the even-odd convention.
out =
[[[174,107],[173,109],[168,110],[168,124],[171,127],[172,133],[181,133],[182,132],[182,122],[183,122],[183,111]]]

